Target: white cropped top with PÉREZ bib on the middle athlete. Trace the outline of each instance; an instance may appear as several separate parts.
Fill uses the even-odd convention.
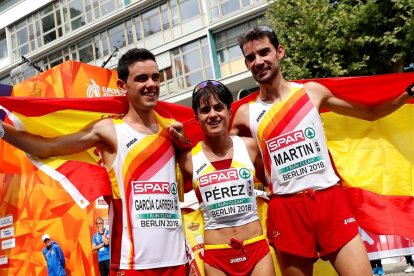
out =
[[[201,196],[204,228],[220,229],[258,220],[254,192],[255,168],[246,145],[232,136],[233,160],[229,169],[216,170],[199,142],[192,149],[193,188]]]

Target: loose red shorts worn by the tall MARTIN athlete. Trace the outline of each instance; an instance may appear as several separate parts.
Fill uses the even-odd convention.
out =
[[[323,258],[358,235],[358,224],[345,192],[336,185],[325,190],[272,196],[267,234],[269,242],[280,251]]]

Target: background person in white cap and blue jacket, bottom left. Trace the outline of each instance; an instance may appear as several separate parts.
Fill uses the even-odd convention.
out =
[[[49,234],[42,236],[46,247],[42,253],[47,263],[47,274],[49,276],[65,276],[65,256],[59,245],[50,239]]]

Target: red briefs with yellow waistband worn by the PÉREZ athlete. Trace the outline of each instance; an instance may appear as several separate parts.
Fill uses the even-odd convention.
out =
[[[264,235],[244,242],[232,239],[231,244],[205,245],[204,250],[206,264],[234,276],[250,275],[270,252]]]

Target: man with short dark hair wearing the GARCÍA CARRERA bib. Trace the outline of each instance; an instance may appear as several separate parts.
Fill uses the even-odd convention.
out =
[[[75,133],[53,138],[1,123],[0,138],[41,158],[98,147],[112,187],[110,273],[186,275],[172,144],[186,144],[183,125],[174,122],[163,127],[163,118],[154,111],[160,73],[150,51],[127,51],[119,59],[118,77],[117,86],[128,99],[123,116],[97,120]]]

